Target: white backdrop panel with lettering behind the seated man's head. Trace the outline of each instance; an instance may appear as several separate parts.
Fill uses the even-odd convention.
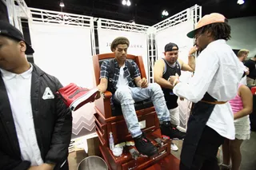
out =
[[[143,63],[145,66],[146,77],[148,78],[147,73],[147,35],[139,34],[128,31],[118,31],[118,30],[98,30],[98,47],[99,53],[111,53],[110,45],[113,42],[114,38],[126,37],[130,41],[130,46],[127,51],[129,54],[142,56]]]

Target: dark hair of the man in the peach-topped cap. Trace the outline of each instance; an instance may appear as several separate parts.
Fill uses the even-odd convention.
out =
[[[214,37],[214,40],[224,39],[227,41],[231,38],[230,36],[231,28],[227,23],[227,19],[225,20],[225,22],[213,23],[213,24],[203,26],[200,32],[201,34],[203,34],[207,30],[211,31],[211,34]]]

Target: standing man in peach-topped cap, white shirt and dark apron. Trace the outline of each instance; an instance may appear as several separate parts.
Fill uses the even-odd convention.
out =
[[[218,147],[234,140],[234,113],[227,101],[238,92],[244,66],[230,45],[230,26],[222,14],[209,14],[187,36],[202,51],[189,83],[170,78],[174,94],[194,102],[182,145],[180,170],[218,170]]]

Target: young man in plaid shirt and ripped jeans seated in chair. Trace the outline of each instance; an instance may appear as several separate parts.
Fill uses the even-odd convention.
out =
[[[143,135],[134,109],[134,102],[150,98],[158,114],[162,135],[173,137],[174,134],[170,128],[170,113],[160,85],[149,84],[145,77],[141,77],[138,65],[134,61],[126,60],[129,45],[129,40],[123,37],[115,38],[111,43],[110,48],[115,58],[103,61],[101,65],[99,93],[96,99],[100,98],[101,93],[105,93],[106,89],[110,90],[114,103],[121,104],[123,117],[134,138],[138,152],[153,156],[157,153],[157,148]],[[129,69],[130,66],[132,69]],[[113,74],[110,73],[112,69]],[[134,73],[130,73],[130,70]]]

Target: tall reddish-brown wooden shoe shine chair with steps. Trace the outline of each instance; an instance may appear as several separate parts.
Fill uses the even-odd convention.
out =
[[[114,58],[114,53],[104,53],[93,57],[96,85],[100,82],[99,77],[102,62],[112,58]],[[128,54],[126,59],[135,61],[142,77],[146,77],[141,56]],[[94,114],[96,132],[101,143],[99,148],[109,168],[111,170],[145,169],[153,166],[158,160],[164,159],[165,156],[170,156],[170,140],[162,140],[162,142],[155,141],[156,138],[161,139],[161,131],[154,105],[150,100],[137,102],[134,106],[142,132],[158,147],[158,156],[154,156],[154,158],[140,156],[135,160],[129,152],[131,148],[134,148],[132,146],[125,147],[122,156],[116,157],[113,155],[109,147],[110,132],[114,136],[114,144],[130,141],[132,137],[130,136],[130,132],[128,132],[126,121],[122,116],[121,105],[114,105],[111,102],[112,95],[112,93],[106,91],[100,99],[95,101],[96,113]]]

